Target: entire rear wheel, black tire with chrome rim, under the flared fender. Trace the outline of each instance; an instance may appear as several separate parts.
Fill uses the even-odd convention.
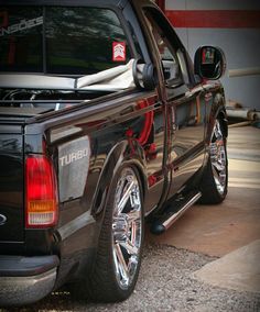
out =
[[[82,285],[99,302],[126,300],[133,291],[143,245],[143,196],[134,168],[121,167],[111,181],[96,260]]]

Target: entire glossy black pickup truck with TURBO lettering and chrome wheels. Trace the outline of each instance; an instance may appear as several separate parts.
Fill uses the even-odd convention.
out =
[[[124,300],[144,221],[225,199],[225,58],[194,64],[153,1],[0,0],[0,307]]]

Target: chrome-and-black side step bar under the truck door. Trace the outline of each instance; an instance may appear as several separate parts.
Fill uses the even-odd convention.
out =
[[[201,192],[193,192],[185,199],[173,201],[172,205],[166,209],[165,213],[152,223],[150,231],[156,235],[164,233],[201,197]]]

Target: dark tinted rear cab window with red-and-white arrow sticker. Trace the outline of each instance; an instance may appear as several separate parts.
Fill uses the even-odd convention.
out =
[[[0,71],[90,75],[130,58],[109,9],[0,8]]]

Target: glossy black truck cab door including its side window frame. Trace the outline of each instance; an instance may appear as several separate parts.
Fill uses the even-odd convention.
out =
[[[174,30],[155,8],[143,9],[161,59],[167,107],[169,197],[180,191],[204,161],[205,101],[189,57]]]

